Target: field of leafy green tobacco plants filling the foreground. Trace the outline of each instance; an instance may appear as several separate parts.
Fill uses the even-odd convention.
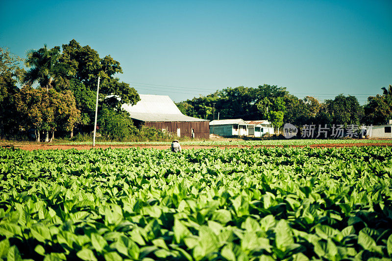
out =
[[[0,149],[0,260],[391,258],[391,147]]]

